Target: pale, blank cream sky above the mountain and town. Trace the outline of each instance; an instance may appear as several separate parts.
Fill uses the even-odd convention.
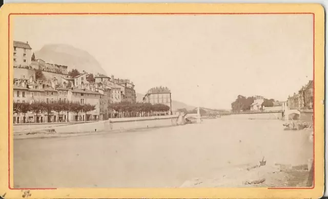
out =
[[[33,51],[67,43],[144,94],[168,86],[189,105],[231,108],[238,95],[279,101],[313,78],[313,18],[273,15],[14,16]]]

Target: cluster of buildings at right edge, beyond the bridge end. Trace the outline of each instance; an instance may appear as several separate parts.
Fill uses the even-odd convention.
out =
[[[313,109],[313,95],[313,80],[310,80],[298,93],[288,96],[288,107],[298,110]]]

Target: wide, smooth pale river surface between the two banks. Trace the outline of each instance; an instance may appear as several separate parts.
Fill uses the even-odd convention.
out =
[[[280,120],[221,117],[140,131],[14,140],[14,187],[179,187],[224,169],[307,164],[313,145]]]

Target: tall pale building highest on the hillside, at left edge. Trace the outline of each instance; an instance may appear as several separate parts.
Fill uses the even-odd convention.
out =
[[[32,63],[32,48],[29,42],[14,41],[13,45],[13,63],[14,66],[27,66],[29,67]]]

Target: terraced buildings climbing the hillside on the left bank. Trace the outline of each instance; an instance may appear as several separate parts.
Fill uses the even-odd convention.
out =
[[[15,42],[16,52],[19,47],[31,52],[32,48],[28,43]],[[15,46],[14,46],[15,47]],[[24,47],[24,48],[23,48]],[[15,51],[14,51],[15,52]],[[24,60],[27,55],[16,54],[16,61]],[[27,53],[28,54],[28,53]],[[14,65],[14,81],[13,81],[13,101],[19,103],[33,102],[78,102],[80,104],[94,105],[95,109],[83,113],[67,113],[52,112],[48,113],[32,113],[26,114],[27,121],[33,120],[38,122],[58,122],[58,121],[90,121],[90,120],[107,120],[113,117],[114,113],[109,110],[109,104],[121,101],[135,102],[134,84],[130,80],[112,81],[110,77],[96,74],[94,81],[88,80],[88,76],[92,75],[83,72],[75,77],[68,76],[67,67],[57,64],[46,63],[42,59],[31,60],[29,58],[25,65]],[[37,74],[42,72],[44,77],[38,78]],[[114,78],[113,78],[114,79]],[[46,117],[47,115],[47,117]],[[14,123],[23,123],[23,115],[14,113]]]

